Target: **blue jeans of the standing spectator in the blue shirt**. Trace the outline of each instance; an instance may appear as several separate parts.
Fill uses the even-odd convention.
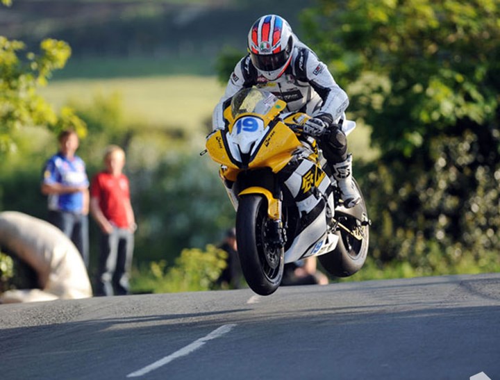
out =
[[[66,211],[49,211],[49,222],[72,240],[80,252],[85,267],[89,265],[88,216]]]

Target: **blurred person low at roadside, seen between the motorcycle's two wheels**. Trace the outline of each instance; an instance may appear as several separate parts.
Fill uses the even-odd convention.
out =
[[[328,277],[317,269],[317,258],[312,256],[285,264],[281,285],[326,285]]]

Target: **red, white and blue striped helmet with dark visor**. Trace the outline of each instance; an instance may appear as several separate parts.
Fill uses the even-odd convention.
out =
[[[249,31],[248,48],[253,65],[266,79],[274,81],[285,72],[292,60],[292,28],[283,17],[260,17]]]

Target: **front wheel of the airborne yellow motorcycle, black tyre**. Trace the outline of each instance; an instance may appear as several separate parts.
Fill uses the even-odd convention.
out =
[[[270,295],[283,279],[284,249],[269,240],[267,200],[262,195],[244,195],[236,213],[238,256],[245,280],[258,295]]]

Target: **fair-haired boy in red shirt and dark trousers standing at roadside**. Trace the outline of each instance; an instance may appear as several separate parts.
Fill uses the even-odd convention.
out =
[[[94,294],[128,294],[134,232],[137,228],[131,205],[128,178],[122,173],[125,152],[110,145],[104,154],[105,170],[90,183],[90,213],[101,229],[101,254]]]

